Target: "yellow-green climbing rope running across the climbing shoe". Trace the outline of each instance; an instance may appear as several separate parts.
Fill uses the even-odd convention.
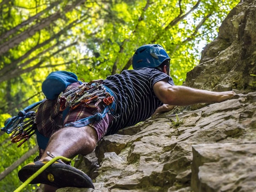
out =
[[[72,159],[65,158],[63,156],[57,156],[47,162],[44,166],[42,166],[37,172],[35,172],[30,178],[28,178],[20,187],[18,187],[14,192],[20,192],[24,187],[26,187],[34,178],[36,178],[39,174],[41,174],[47,167],[53,164],[56,160],[62,159],[64,161],[71,161]]]

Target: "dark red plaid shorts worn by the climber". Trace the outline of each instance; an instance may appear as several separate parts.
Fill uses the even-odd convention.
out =
[[[79,86],[79,82],[75,82],[70,84],[66,90],[71,90],[77,86]],[[51,135],[59,129],[62,129],[65,124],[78,121],[80,119],[89,117],[94,115],[96,112],[102,112],[105,106],[100,105],[96,109],[87,108],[84,105],[80,105],[74,110],[70,110],[66,117],[63,119],[62,112],[59,111],[60,105],[55,100],[45,100],[41,105],[38,107],[36,112],[36,123],[38,132],[45,137],[50,138]],[[112,121],[113,117],[108,113],[104,118],[100,121],[94,121],[89,124],[89,126],[93,127],[97,134],[98,134],[98,141],[102,139],[102,137],[106,134],[108,125]],[[74,128],[75,129],[75,128]],[[42,154],[44,153],[44,149],[39,147],[39,157],[41,158]]]

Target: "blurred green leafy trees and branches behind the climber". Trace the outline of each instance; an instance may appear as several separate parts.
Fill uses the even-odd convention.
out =
[[[238,3],[0,0],[0,127],[44,98],[41,84],[50,72],[72,71],[85,81],[104,79],[132,69],[132,55],[143,44],[157,43],[167,50],[170,74],[181,85],[198,64],[203,44],[217,37],[218,27]],[[0,191],[20,186],[17,171],[37,155],[34,138],[17,148],[9,137],[0,132]],[[40,190],[31,185],[25,191]]]

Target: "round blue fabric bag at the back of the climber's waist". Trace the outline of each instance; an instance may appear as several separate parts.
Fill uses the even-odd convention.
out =
[[[78,82],[76,74],[68,71],[54,71],[43,81],[42,91],[46,98],[54,100],[69,84],[74,82]]]

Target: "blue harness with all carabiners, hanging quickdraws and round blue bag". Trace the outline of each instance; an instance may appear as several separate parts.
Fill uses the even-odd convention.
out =
[[[79,82],[80,86],[63,93],[66,87],[74,82]],[[47,99],[54,100],[58,97],[57,101],[60,104],[59,110],[63,113],[63,121],[66,114],[79,105],[84,105],[89,108],[97,108],[100,103],[103,103],[105,108],[101,113],[95,113],[93,116],[65,124],[64,126],[83,127],[94,121],[100,121],[100,119],[104,118],[107,113],[114,114],[116,105],[113,92],[102,83],[102,79],[81,82],[78,81],[78,78],[74,73],[68,71],[55,71],[50,73],[46,80],[44,80],[42,91]],[[12,133],[11,141],[13,143],[22,140],[18,147],[36,133],[38,146],[41,149],[46,149],[49,138],[38,132],[36,127],[36,112],[31,111],[44,100],[33,103],[24,110],[19,111],[17,116],[8,118],[4,123],[5,127],[1,128],[2,131],[5,131],[8,134]]]

